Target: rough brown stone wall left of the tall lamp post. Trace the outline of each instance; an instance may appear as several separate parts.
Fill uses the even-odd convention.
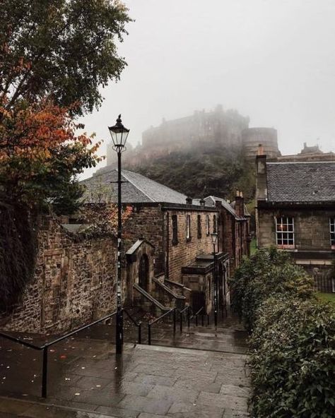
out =
[[[114,311],[115,261],[112,239],[78,239],[42,220],[35,277],[1,328],[58,333]]]

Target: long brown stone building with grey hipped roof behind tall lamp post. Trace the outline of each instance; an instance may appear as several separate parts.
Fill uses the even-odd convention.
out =
[[[86,185],[88,194],[101,184],[107,186],[109,201],[116,202],[116,179],[117,170],[110,170],[96,174],[83,181],[83,184]],[[206,310],[211,311],[214,267],[211,232],[218,232],[216,259],[219,265],[221,301],[226,304],[229,300],[227,282],[230,266],[235,268],[242,255],[247,255],[249,247],[249,220],[244,216],[242,196],[237,197],[238,208],[235,211],[223,199],[218,199],[220,203],[214,201],[214,204],[213,198],[192,201],[182,193],[128,170],[122,170],[122,181],[122,202],[130,205],[132,212],[123,226],[124,236],[130,242],[145,239],[153,246],[152,280],[143,280],[146,285],[141,286],[141,289],[135,286],[136,292],[141,292],[148,299],[148,295],[142,290],[150,289],[151,296],[161,299],[160,285],[163,284],[167,287],[165,290],[170,289],[175,295],[182,292],[186,303],[192,304],[194,309],[206,306]],[[227,206],[230,210],[229,220],[225,218]],[[237,215],[237,211],[240,211],[240,215]],[[228,231],[232,225],[234,232],[231,237],[234,244],[228,245]],[[137,278],[134,280],[131,288],[141,281]],[[132,299],[129,299],[129,303],[134,303],[136,292],[131,292]],[[173,294],[170,296],[173,299]],[[181,302],[176,299],[174,303]]]

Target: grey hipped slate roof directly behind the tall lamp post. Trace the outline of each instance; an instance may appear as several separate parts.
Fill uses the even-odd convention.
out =
[[[111,169],[101,174],[95,174],[89,179],[81,181],[86,186],[84,198],[86,201],[102,203],[117,202],[117,169]],[[122,170],[122,203],[184,203],[186,198],[182,193],[163,186],[139,173]],[[102,195],[102,198],[98,196]]]

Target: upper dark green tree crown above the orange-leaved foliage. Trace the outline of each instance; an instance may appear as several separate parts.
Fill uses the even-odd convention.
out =
[[[1,0],[0,98],[6,109],[47,97],[73,114],[102,101],[99,87],[126,62],[117,42],[131,19],[118,0]],[[76,107],[74,107],[76,103]]]

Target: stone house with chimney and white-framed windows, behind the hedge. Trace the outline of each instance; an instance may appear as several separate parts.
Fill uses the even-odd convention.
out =
[[[335,161],[267,162],[258,155],[256,198],[257,245],[289,251],[319,289],[331,291]]]

